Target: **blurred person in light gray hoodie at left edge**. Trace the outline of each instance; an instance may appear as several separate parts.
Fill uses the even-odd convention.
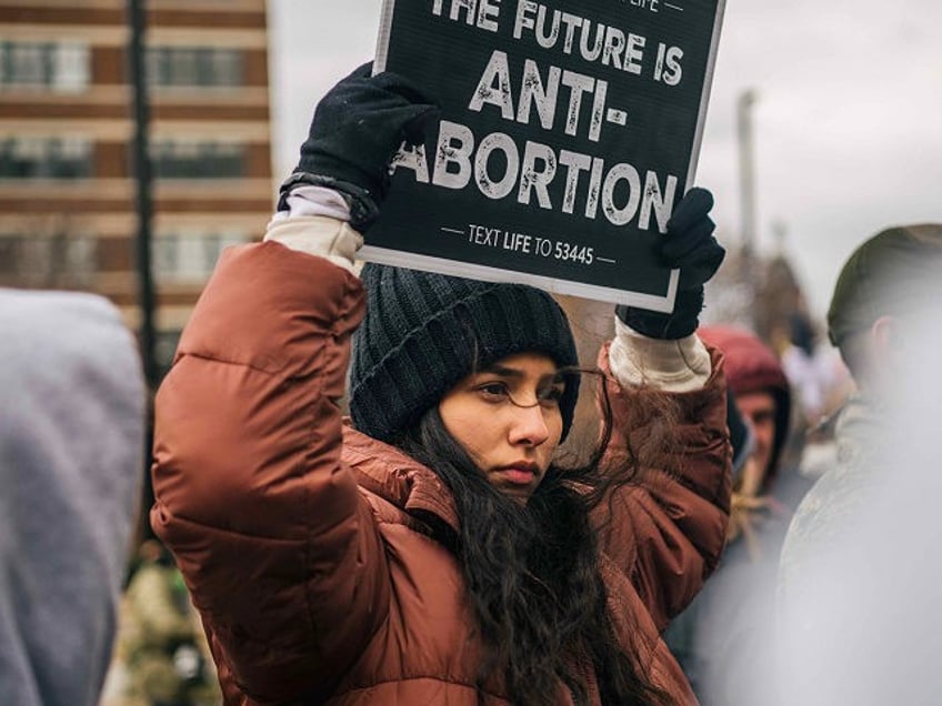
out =
[[[140,360],[107,300],[0,289],[0,704],[91,706],[140,506]]]

